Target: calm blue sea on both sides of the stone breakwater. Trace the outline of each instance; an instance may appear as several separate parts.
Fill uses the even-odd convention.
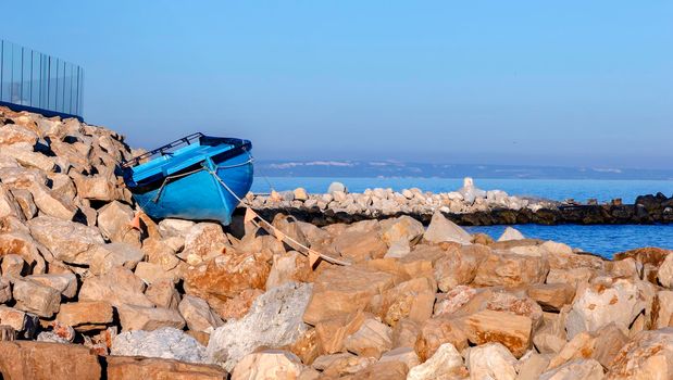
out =
[[[332,181],[345,183],[351,192],[372,188],[402,190],[420,188],[424,191],[446,192],[459,189],[462,178],[317,178],[317,177],[256,177],[254,192],[269,192],[270,185],[277,191],[298,187],[309,192],[323,193]],[[609,201],[621,198],[633,203],[637,195],[662,192],[673,194],[673,180],[563,180],[563,179],[489,179],[474,178],[475,185],[485,190],[504,190],[511,195],[540,197],[557,201],[569,198],[586,201],[595,198]],[[564,242],[573,248],[611,257],[612,254],[640,246],[673,249],[673,225],[653,226],[514,226],[528,238]],[[504,226],[470,227],[471,232],[485,232],[497,238]]]

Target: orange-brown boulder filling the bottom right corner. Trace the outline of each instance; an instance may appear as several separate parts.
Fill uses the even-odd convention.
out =
[[[673,328],[639,332],[608,369],[608,379],[673,378]]]

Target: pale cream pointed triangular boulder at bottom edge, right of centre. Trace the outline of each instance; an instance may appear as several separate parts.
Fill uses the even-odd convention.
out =
[[[462,379],[468,375],[463,357],[451,343],[440,345],[425,363],[409,369],[408,380]]]

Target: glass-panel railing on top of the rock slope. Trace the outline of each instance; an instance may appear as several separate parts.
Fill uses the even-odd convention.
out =
[[[84,69],[0,39],[0,104],[82,118]]]

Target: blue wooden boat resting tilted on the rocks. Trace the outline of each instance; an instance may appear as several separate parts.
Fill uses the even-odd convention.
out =
[[[122,164],[124,181],[152,218],[232,221],[252,186],[248,140],[194,134]]]

